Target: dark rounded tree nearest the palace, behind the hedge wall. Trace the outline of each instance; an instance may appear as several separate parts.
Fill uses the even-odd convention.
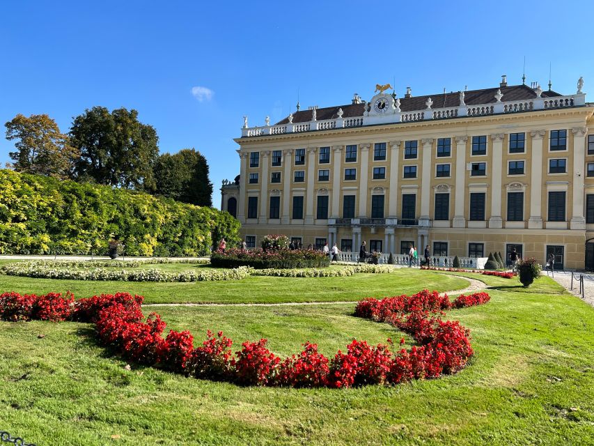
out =
[[[194,148],[159,156],[155,163],[153,192],[184,203],[212,206],[212,183],[206,158]]]

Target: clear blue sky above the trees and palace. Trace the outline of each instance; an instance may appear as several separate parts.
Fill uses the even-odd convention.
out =
[[[502,74],[519,84],[524,56],[526,83],[546,89],[550,62],[554,90],[575,93],[584,76],[587,93],[593,13],[591,1],[7,1],[0,122],[46,113],[67,132],[94,105],[137,109],[162,152],[207,157],[218,206],[221,180],[239,172],[244,114],[276,122],[298,91],[302,107],[325,107],[394,79],[400,96]],[[0,138],[2,165],[12,148]]]

